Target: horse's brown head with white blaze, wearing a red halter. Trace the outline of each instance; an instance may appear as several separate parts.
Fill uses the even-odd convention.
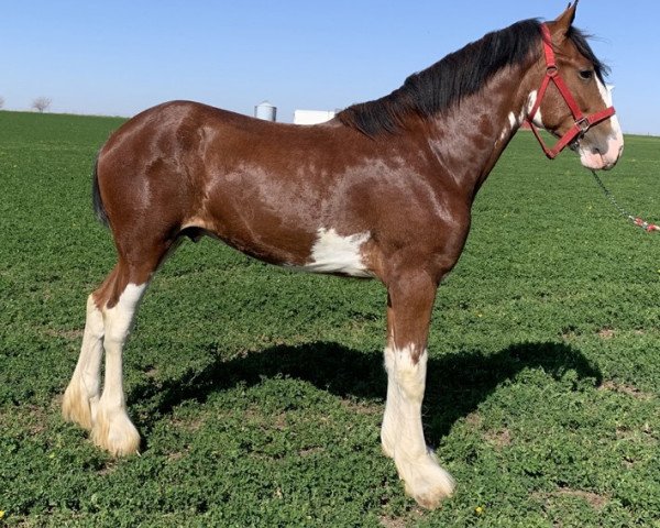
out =
[[[554,150],[543,146],[550,157],[568,145],[580,154],[585,167],[609,169],[622,155],[624,135],[614,114],[612,89],[604,80],[607,68],[583,33],[572,26],[576,7],[578,1],[544,24],[543,54],[538,63],[543,80],[530,97],[529,119],[560,138]]]

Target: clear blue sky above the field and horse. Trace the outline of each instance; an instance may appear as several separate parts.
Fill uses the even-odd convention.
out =
[[[8,1],[0,96],[26,110],[132,116],[170,99],[252,113],[267,99],[342,108],[402,85],[448,53],[566,0]],[[660,2],[582,0],[578,26],[612,66],[625,132],[660,135]]]

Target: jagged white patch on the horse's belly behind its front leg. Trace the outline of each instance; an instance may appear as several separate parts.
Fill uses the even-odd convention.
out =
[[[340,273],[352,277],[372,277],[364,262],[360,249],[371,234],[358,233],[340,237],[334,228],[318,230],[318,237],[311,246],[309,262],[302,266],[292,266],[304,272],[312,273]]]

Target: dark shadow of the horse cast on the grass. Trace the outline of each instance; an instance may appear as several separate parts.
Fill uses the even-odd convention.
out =
[[[556,380],[574,371],[579,380],[593,380],[597,385],[602,382],[600,370],[582,352],[562,343],[513,344],[487,355],[459,352],[430,358],[425,397],[427,440],[438,443],[457,420],[474,411],[498,385],[526,369],[542,369]],[[387,387],[382,352],[363,353],[333,342],[312,342],[276,345],[244,358],[218,360],[204,371],[178,380],[136,386],[130,399],[154,398],[156,416],[163,416],[183,402],[204,403],[218,391],[237,384],[256,385],[264,377],[275,376],[302,380],[342,398],[381,404]],[[153,425],[150,418],[141,424],[147,429]]]

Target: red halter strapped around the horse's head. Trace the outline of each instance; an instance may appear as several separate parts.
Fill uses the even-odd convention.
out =
[[[546,155],[550,160],[554,160],[558,154],[566,147],[566,145],[575,140],[575,138],[582,138],[591,127],[600,123],[601,121],[609,119],[612,116],[614,116],[615,110],[614,107],[608,107],[605,110],[601,110],[600,112],[592,113],[590,116],[584,116],[582,113],[580,107],[575,102],[575,99],[571,95],[571,90],[569,90],[569,87],[562,79],[561,75],[559,75],[559,69],[554,61],[554,52],[552,51],[552,37],[550,36],[550,30],[546,24],[541,24],[541,35],[543,40],[543,52],[546,54],[546,77],[543,77],[543,81],[541,82],[541,88],[537,95],[537,100],[531,111],[527,116],[527,121],[529,122],[534,135],[536,135],[536,139],[539,140],[541,148],[543,148]],[[571,127],[568,132],[559,139],[552,148],[548,147],[546,143],[543,143],[537,127],[532,122],[534,117],[539,111],[541,101],[546,96],[546,90],[548,89],[550,81],[554,82],[554,86],[557,86],[557,89],[571,109],[571,113],[575,120],[575,124],[573,124],[573,127]]]

